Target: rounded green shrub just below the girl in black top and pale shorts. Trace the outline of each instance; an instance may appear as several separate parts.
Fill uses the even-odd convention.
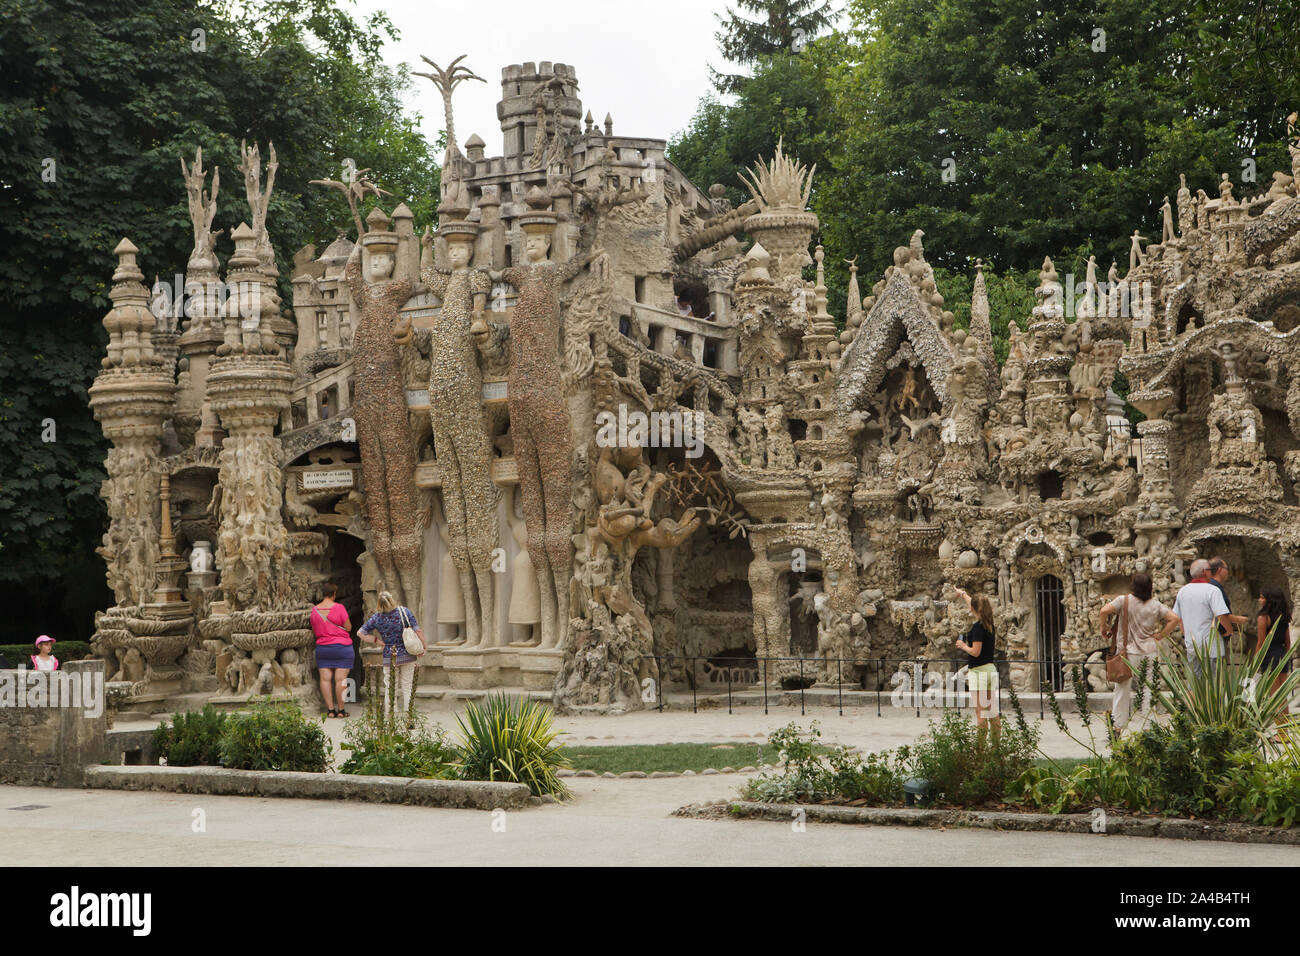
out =
[[[913,748],[913,770],[931,782],[937,800],[971,806],[1002,800],[1034,763],[1039,732],[1009,722],[1001,732],[980,730],[956,710],[930,723]]]

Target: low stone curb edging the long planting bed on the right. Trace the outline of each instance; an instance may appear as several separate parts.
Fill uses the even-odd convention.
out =
[[[875,826],[972,827],[978,830],[1019,830],[1024,832],[1092,834],[1093,819],[1087,813],[1004,813],[994,810],[928,810],[897,806],[822,806],[807,804],[755,804],[732,801],[682,806],[681,817],[774,819],[789,823],[794,810],[818,823],[857,823]],[[1300,847],[1300,827],[1280,829],[1226,823],[1219,821],[1164,817],[1106,816],[1106,829],[1098,836],[1157,836],[1174,840],[1219,840],[1225,843],[1273,843]]]

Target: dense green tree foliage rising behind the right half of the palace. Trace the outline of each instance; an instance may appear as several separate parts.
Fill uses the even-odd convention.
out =
[[[1160,238],[1179,173],[1213,195],[1226,172],[1242,196],[1288,168],[1290,13],[1282,0],[849,0],[841,29],[801,52],[755,48],[734,101],[706,99],[668,155],[702,185],[736,185],[728,163],[783,135],[816,163],[833,307],[841,260],[858,256],[870,287],[914,229],[953,276],[978,256],[998,274],[1045,255],[1082,273],[1089,254],[1123,272],[1135,228]],[[723,52],[746,36],[724,27]],[[968,307],[968,286],[940,290]]]

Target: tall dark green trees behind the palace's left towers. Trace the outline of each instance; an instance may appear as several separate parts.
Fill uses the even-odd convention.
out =
[[[87,388],[118,239],[150,276],[185,268],[179,157],[202,144],[221,166],[225,255],[248,219],[239,140],[276,143],[268,226],[286,274],[300,246],[348,228],[342,199],[308,185],[344,157],[432,219],[434,153],[402,108],[404,72],[378,60],[394,35],[335,0],[0,0],[0,594],[21,639],[84,637],[112,602]]]

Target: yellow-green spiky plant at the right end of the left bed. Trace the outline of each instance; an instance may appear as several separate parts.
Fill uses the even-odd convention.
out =
[[[564,745],[551,728],[551,709],[528,697],[493,693],[472,701],[460,724],[459,777],[464,780],[526,783],[536,796],[564,799],[568,788],[555,777],[569,766]]]

